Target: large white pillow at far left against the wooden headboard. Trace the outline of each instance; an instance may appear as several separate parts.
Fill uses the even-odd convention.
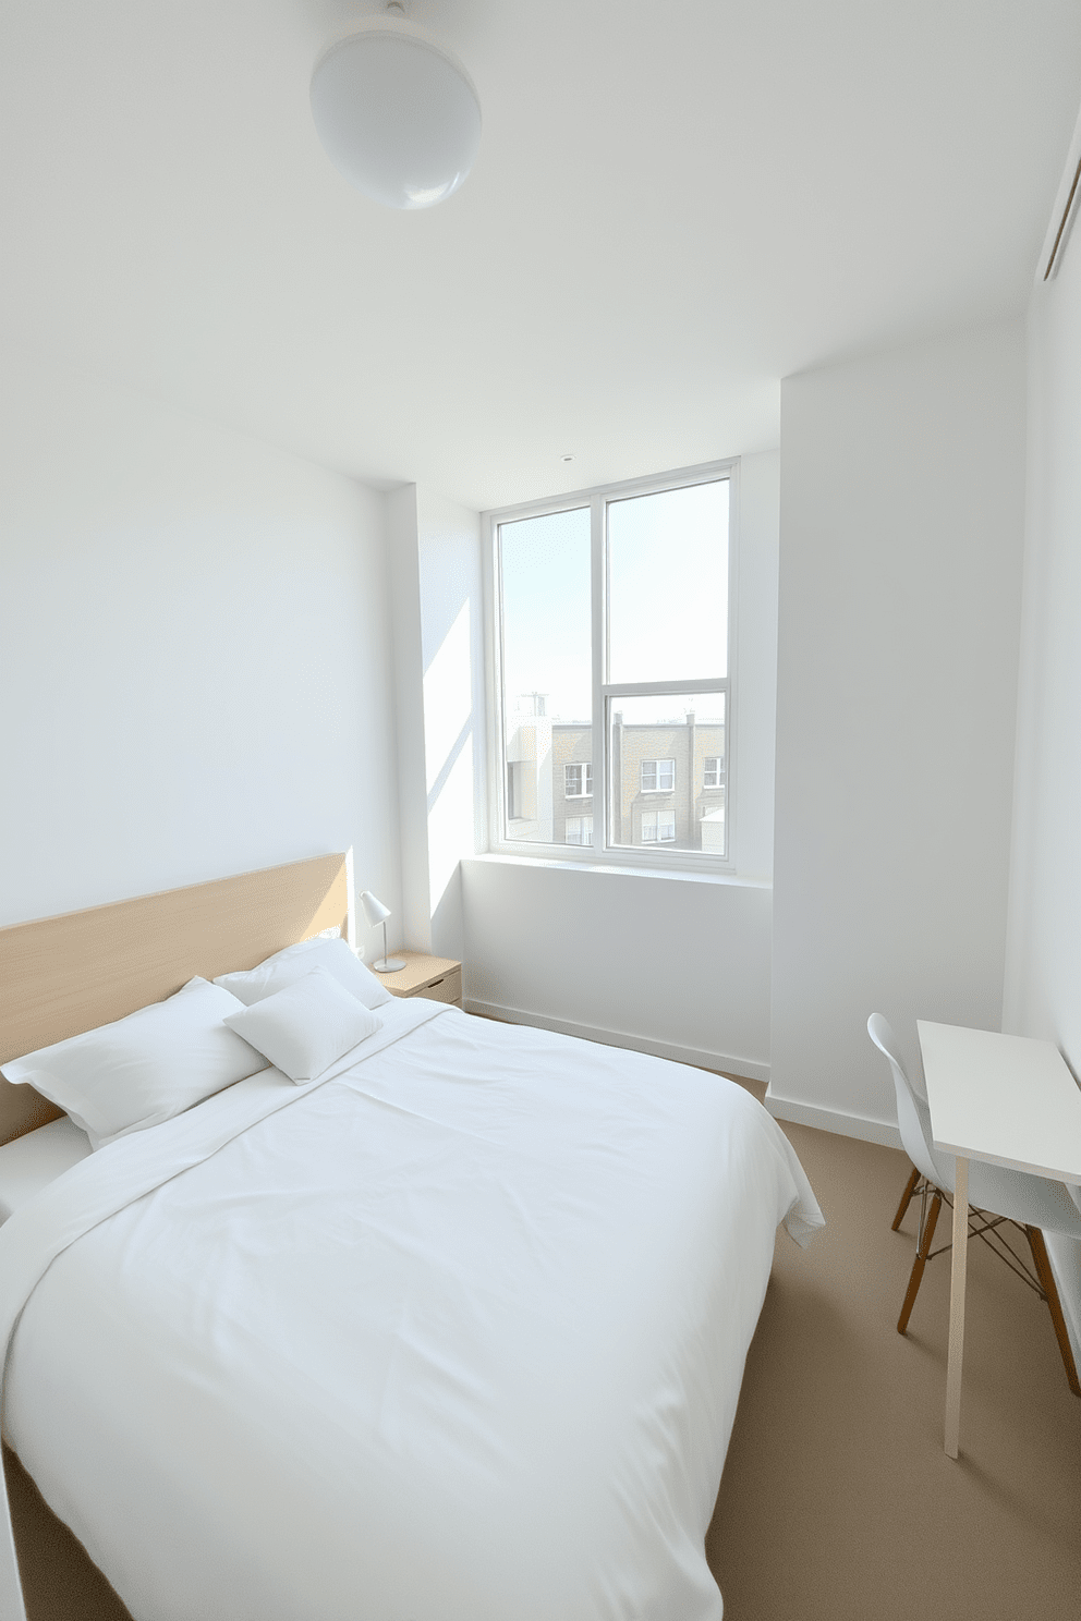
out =
[[[104,1148],[266,1068],[266,1059],[222,1023],[240,1007],[227,990],[190,979],[165,1002],[28,1052],[0,1065],[0,1075],[37,1088],[92,1148]]]

